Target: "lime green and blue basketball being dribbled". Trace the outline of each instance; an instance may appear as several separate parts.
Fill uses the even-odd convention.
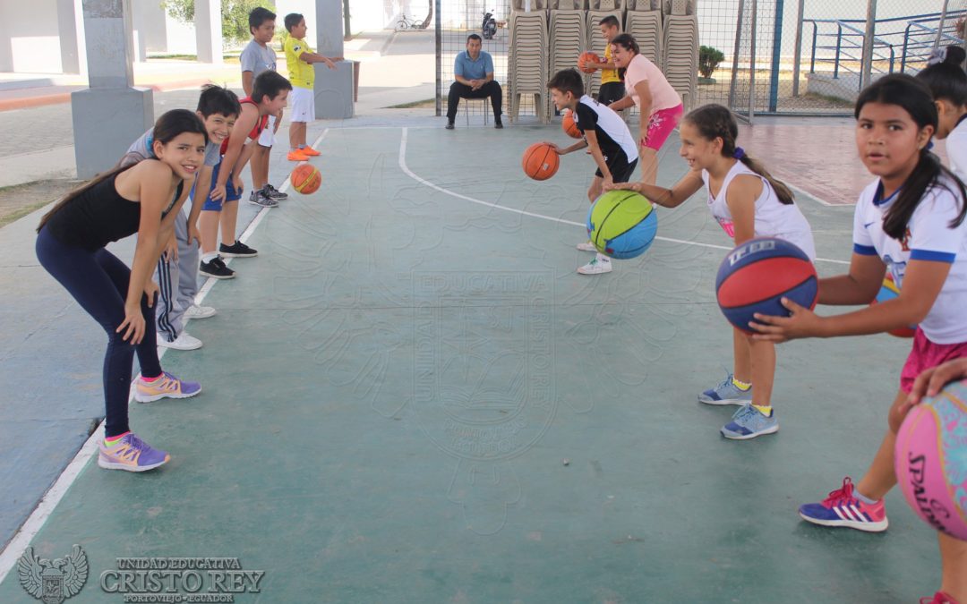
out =
[[[652,202],[633,190],[610,190],[588,211],[588,238],[602,254],[627,260],[655,241],[659,216]]]

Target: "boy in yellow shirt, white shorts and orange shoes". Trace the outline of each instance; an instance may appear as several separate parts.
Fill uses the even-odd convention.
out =
[[[325,63],[336,69],[332,59],[312,52],[306,43],[306,18],[302,14],[285,15],[285,64],[289,69],[292,92],[289,94],[289,161],[306,161],[319,152],[306,144],[306,125],[315,119],[315,67],[313,63]],[[337,59],[339,60],[339,59]]]

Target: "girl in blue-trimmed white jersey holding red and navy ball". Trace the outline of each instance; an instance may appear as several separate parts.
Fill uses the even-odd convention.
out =
[[[800,516],[813,524],[880,532],[888,526],[883,497],[896,484],[896,431],[910,409],[914,381],[941,363],[967,358],[967,190],[928,150],[938,117],[923,81],[886,75],[860,94],[855,114],[860,158],[878,178],[856,205],[849,273],[820,279],[819,303],[868,304],[887,271],[899,296],[831,317],[783,301],[791,317],[755,315],[759,323],[752,326],[761,331],[757,339],[782,342],[919,324],[900,372],[890,429],[869,470],[855,486],[846,477],[822,502],[799,508]],[[943,578],[931,601],[967,602],[967,542],[938,535]]]

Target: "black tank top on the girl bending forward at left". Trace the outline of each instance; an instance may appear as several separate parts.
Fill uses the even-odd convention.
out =
[[[117,174],[74,197],[50,216],[44,228],[61,243],[87,251],[132,236],[141,220],[141,204],[122,197],[114,187],[115,179]],[[184,181],[178,184],[162,218],[171,212],[184,187]]]

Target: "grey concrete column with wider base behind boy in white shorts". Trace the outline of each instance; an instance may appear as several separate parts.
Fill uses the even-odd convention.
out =
[[[315,47],[325,57],[342,56],[342,0],[315,0]],[[315,68],[316,119],[353,117],[353,63],[338,61],[334,72]]]

